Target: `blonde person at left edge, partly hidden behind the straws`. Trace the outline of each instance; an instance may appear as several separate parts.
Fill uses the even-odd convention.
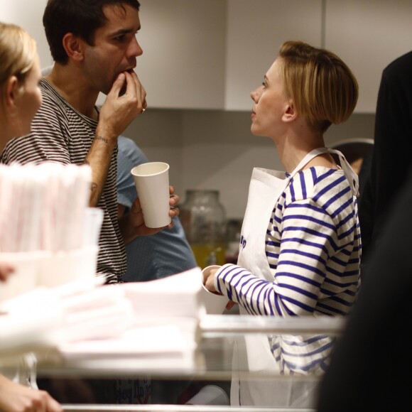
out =
[[[39,81],[35,40],[22,28],[0,22],[0,151],[8,141],[30,131],[42,99]],[[12,266],[0,262],[0,281],[6,281],[12,273]],[[63,408],[46,391],[0,375],[0,410],[60,412]]]

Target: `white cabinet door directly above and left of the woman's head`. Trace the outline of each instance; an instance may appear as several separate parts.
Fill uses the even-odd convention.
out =
[[[286,40],[320,47],[321,0],[227,0],[225,109],[250,110],[250,92],[263,82]]]

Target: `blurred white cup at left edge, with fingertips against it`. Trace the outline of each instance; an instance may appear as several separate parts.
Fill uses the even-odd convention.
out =
[[[39,256],[36,252],[0,253],[0,261],[14,269],[5,282],[0,282],[0,302],[36,288]]]

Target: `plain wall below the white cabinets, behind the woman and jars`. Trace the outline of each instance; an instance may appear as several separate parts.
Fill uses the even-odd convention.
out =
[[[181,202],[189,189],[215,189],[230,218],[244,215],[254,167],[283,170],[271,140],[253,136],[247,112],[150,109],[125,135],[152,161],[170,164],[170,183]],[[342,139],[373,139],[374,115],[354,114],[331,126],[327,145]]]

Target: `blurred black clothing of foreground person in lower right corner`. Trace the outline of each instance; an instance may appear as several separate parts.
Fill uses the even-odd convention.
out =
[[[318,412],[411,410],[412,174],[320,386]]]

